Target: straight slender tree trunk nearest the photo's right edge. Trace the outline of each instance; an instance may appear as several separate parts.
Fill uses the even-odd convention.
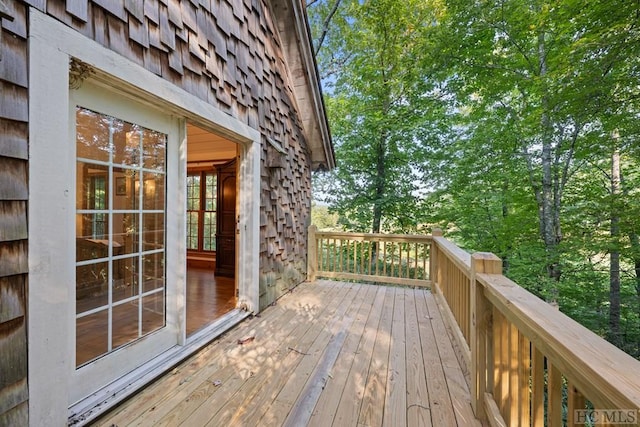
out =
[[[617,144],[614,137],[614,144]],[[620,151],[614,146],[611,155],[611,249],[609,252],[609,341],[618,347],[620,334]]]

